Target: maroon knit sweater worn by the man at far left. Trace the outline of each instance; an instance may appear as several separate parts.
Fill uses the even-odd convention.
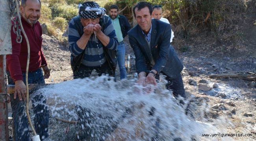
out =
[[[41,65],[47,65],[45,56],[42,51],[42,27],[39,22],[30,25],[24,18],[21,22],[28,42],[30,43],[30,64],[28,71],[36,71]],[[22,72],[26,72],[28,48],[26,39],[21,32],[22,42],[16,43],[17,35],[13,33],[13,25],[11,26],[11,43],[13,54],[6,55],[7,71],[10,72],[13,81],[23,80]]]

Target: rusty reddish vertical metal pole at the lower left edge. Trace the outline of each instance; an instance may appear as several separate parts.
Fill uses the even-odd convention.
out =
[[[9,141],[6,94],[6,55],[0,55],[0,141]]]

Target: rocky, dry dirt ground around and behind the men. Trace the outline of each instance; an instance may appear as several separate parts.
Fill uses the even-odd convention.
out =
[[[253,9],[252,9],[253,10]],[[241,19],[237,32],[241,36],[228,38],[223,36],[223,42],[215,40],[208,31],[191,36],[189,40],[181,40],[174,37],[173,46],[187,45],[187,51],[177,49],[179,58],[184,64],[182,77],[186,94],[195,105],[194,112],[200,112],[202,102],[205,100],[210,111],[205,117],[210,121],[223,117],[232,123],[223,134],[250,134],[250,137],[231,137],[236,141],[256,140],[256,81],[248,81],[236,78],[210,78],[213,74],[241,74],[256,77],[256,12]],[[175,29],[174,29],[175,31]],[[124,40],[126,54],[133,51]],[[51,69],[50,78],[46,83],[59,83],[72,80],[70,67],[70,52],[68,45],[61,44],[53,36],[43,35],[43,52],[48,66]],[[128,73],[128,79],[134,78],[135,60],[131,59],[132,71]],[[252,73],[250,73],[252,72]],[[119,70],[117,69],[117,81]],[[198,89],[198,84],[204,87]],[[213,86],[213,84],[215,84]],[[208,90],[206,90],[208,89]],[[58,126],[56,126],[58,125]],[[69,133],[65,130],[69,127]],[[58,141],[73,141],[76,125],[57,121],[55,117],[50,119],[50,138]],[[206,133],[207,134],[207,133]],[[222,140],[221,137],[216,140]]]

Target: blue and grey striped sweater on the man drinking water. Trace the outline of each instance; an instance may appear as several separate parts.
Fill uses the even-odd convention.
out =
[[[104,22],[104,24],[102,24]],[[117,37],[113,24],[108,16],[104,16],[100,19],[100,25],[102,26],[102,31],[105,35],[109,37],[109,43],[106,46],[107,49],[117,50]],[[76,42],[83,35],[83,25],[80,22],[80,17],[75,16],[69,22],[69,51],[73,56],[78,56],[83,52],[82,49],[78,47]],[[88,67],[100,67],[103,63],[107,61],[104,50],[104,45],[95,38],[95,35],[92,34],[89,39],[82,60],[82,64]]]

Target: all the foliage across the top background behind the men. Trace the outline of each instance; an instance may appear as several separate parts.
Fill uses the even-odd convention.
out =
[[[69,21],[72,17],[78,14],[77,4],[87,0],[41,0],[42,14],[40,22],[50,22],[55,17],[62,17]],[[122,15],[126,16],[132,22],[132,7],[135,3],[142,0],[95,0],[100,6],[106,9],[106,14],[109,14],[109,6],[117,4]],[[239,21],[243,12],[243,2],[241,0],[146,0],[152,5],[162,5],[163,17],[175,27],[176,34],[180,38],[189,38],[195,34],[197,29],[211,31],[217,36],[228,33],[234,25]],[[50,7],[51,12],[48,7]],[[51,13],[51,14],[50,14]],[[52,17],[50,17],[50,15]],[[58,28],[63,31],[63,26],[60,26],[58,19]],[[253,24],[256,24],[255,22]],[[57,28],[55,24],[51,25]]]

